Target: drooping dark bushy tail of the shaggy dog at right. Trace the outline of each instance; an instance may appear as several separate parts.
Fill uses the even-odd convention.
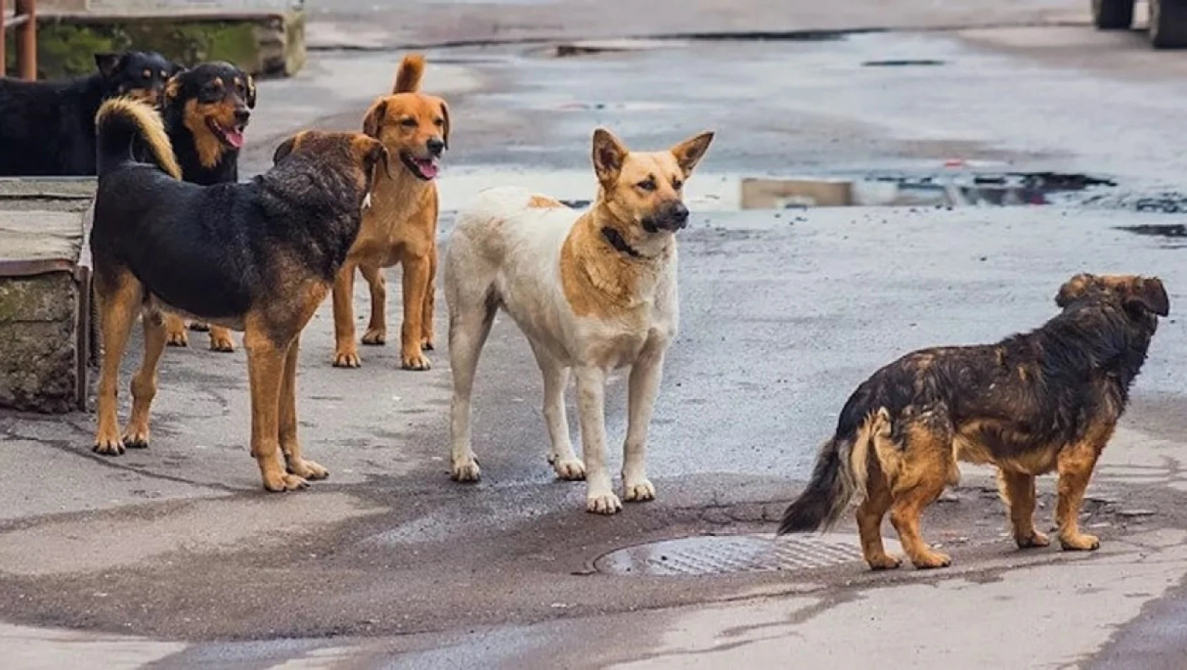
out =
[[[842,411],[842,426],[850,408]],[[827,530],[840,518],[850,502],[865,497],[870,449],[875,440],[890,434],[890,414],[886,408],[864,413],[861,422],[851,422],[848,430],[838,426],[837,434],[820,447],[812,479],[783,512],[779,535]],[[872,458],[877,458],[875,452]]]

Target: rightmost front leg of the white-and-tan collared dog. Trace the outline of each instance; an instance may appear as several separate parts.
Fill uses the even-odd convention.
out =
[[[655,486],[647,479],[647,429],[664,377],[664,351],[643,351],[630,366],[627,404],[627,441],[622,446],[622,498],[654,500]]]

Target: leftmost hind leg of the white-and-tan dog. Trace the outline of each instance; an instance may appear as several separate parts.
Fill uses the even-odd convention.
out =
[[[470,397],[478,356],[495,321],[497,304],[478,298],[450,306],[449,360],[453,374],[453,400],[450,403],[450,477],[455,481],[482,478],[478,459],[470,444]]]

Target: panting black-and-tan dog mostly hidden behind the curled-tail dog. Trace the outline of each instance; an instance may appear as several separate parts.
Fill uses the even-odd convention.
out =
[[[193,184],[239,181],[239,152],[243,129],[255,108],[255,81],[230,63],[203,63],[174,75],[165,85],[161,116],[182,166],[182,179]],[[185,320],[165,315],[165,343],[188,346]],[[235,351],[230,331],[202,321],[195,331],[210,331],[210,349]]]

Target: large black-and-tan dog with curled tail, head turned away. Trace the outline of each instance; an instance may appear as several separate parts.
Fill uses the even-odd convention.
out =
[[[287,491],[326,477],[297,441],[298,339],[358,234],[387,149],[363,134],[299,133],[250,183],[199,186],[179,180],[164,125],[147,104],[108,101],[96,126],[90,248],[104,352],[95,452],[148,446],[167,310],[245,332],[252,455],[264,487]],[[154,165],[133,160],[133,142],[147,147]],[[138,313],[144,363],[132,379],[132,416],[121,438],[116,383]]]

